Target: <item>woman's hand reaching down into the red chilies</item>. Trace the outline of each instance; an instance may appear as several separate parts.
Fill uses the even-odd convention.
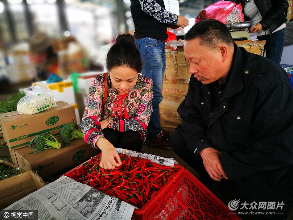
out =
[[[114,169],[120,166],[121,159],[113,144],[105,138],[99,138],[96,142],[97,147],[102,151],[100,166],[104,169]],[[117,162],[115,161],[115,158]]]

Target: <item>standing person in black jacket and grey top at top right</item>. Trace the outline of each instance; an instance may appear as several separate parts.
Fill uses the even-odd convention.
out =
[[[285,22],[288,0],[237,0],[241,3],[246,21],[250,21],[251,33],[258,40],[265,40],[265,55],[276,64],[280,64],[283,53]]]

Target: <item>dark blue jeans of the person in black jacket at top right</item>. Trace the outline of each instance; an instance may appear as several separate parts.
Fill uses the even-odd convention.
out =
[[[284,35],[285,28],[276,31],[272,34],[258,36],[259,40],[265,40],[266,44],[264,47],[266,58],[274,61],[274,63],[280,65],[283,46],[284,46]]]

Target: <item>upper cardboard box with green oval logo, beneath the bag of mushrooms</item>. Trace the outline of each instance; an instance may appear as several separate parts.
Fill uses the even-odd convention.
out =
[[[58,137],[61,127],[76,123],[74,107],[66,102],[56,102],[56,107],[37,114],[20,114],[12,111],[0,114],[4,139],[10,150],[28,146],[37,133],[50,132]]]

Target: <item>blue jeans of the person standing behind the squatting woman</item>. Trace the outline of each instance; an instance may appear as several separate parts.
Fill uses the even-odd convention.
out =
[[[148,137],[152,140],[161,131],[159,103],[163,100],[162,89],[166,69],[165,43],[146,37],[135,39],[135,44],[143,62],[142,75],[150,77],[154,85],[153,113],[146,128]]]

